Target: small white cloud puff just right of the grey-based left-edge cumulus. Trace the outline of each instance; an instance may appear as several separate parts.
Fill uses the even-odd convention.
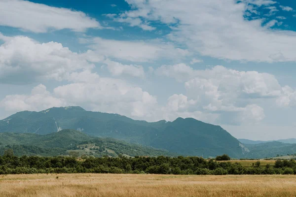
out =
[[[129,75],[133,77],[145,77],[143,66],[123,65],[109,59],[105,60],[104,63],[107,65],[107,68],[113,76]]]

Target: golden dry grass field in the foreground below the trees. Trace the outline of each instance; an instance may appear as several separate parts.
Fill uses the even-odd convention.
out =
[[[57,178],[58,177],[58,178]],[[0,176],[0,197],[295,197],[294,175]]]

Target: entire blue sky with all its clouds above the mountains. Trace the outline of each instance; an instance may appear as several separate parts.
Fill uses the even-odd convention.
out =
[[[81,106],[296,138],[296,1],[0,0],[0,119]]]

